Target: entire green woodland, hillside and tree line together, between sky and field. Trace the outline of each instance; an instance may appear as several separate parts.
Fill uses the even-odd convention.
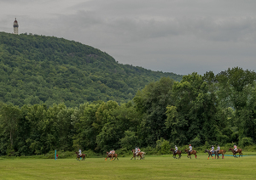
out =
[[[0,32],[0,73],[0,155],[256,143],[251,70],[179,76],[79,42]]]

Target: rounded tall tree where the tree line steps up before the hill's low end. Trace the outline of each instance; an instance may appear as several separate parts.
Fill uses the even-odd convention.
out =
[[[137,111],[142,117],[139,137],[143,145],[154,144],[160,138],[169,138],[166,129],[166,107],[172,105],[172,86],[174,81],[162,77],[159,82],[151,82],[133,98]]]

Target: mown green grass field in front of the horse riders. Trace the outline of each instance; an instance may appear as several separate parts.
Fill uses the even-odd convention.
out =
[[[256,155],[240,158],[197,159],[183,155],[146,156],[145,160],[87,158],[75,159],[1,159],[0,179],[256,179]]]

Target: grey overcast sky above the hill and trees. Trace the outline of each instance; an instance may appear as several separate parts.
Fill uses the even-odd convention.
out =
[[[0,31],[63,37],[121,64],[203,75],[256,69],[255,0],[0,0]]]

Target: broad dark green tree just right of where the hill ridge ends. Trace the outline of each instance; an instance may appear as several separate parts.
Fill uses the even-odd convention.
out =
[[[209,88],[210,82],[194,72],[174,83],[172,98],[175,105],[167,108],[166,126],[172,129],[175,143],[216,140],[218,102],[213,87]]]

